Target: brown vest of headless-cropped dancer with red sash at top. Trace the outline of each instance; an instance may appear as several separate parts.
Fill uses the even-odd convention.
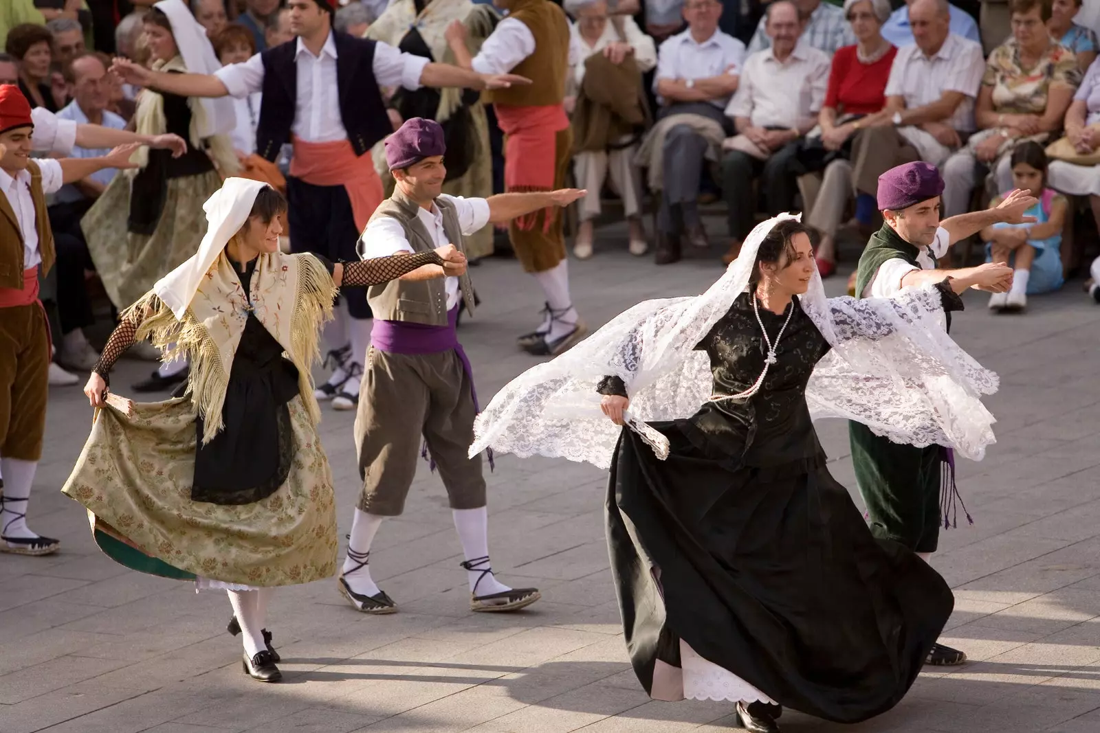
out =
[[[529,85],[493,89],[485,98],[494,104],[546,107],[565,99],[569,75],[569,21],[561,8],[550,0],[518,0],[509,8],[515,18],[535,36],[535,53],[519,62],[512,74],[527,77]]]

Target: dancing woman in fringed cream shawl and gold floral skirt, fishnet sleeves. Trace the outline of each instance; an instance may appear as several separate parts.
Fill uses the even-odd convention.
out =
[[[337,569],[332,473],[310,379],[337,288],[418,268],[457,276],[465,258],[451,245],[338,264],[283,254],[286,201],[244,178],[229,178],[205,209],[198,252],[111,334],[85,388],[97,408],[91,435],[63,491],[87,508],[112,559],[228,590],[244,671],[271,682],[282,677],[264,623],[271,589]],[[186,389],[153,403],[108,397],[111,366],[143,338],[189,359]]]

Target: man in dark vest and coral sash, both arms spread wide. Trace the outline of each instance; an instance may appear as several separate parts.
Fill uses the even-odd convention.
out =
[[[262,91],[256,152],[274,162],[284,143],[294,143],[287,177],[290,246],[337,262],[358,259],[359,234],[385,198],[370,155],[371,147],[393,132],[380,87],[494,89],[527,80],[431,63],[333,31],[333,4],[290,0],[294,42],[215,75],[168,75],[122,59],[111,68],[130,84],[188,97],[243,98]],[[346,307],[338,309],[338,318],[326,329],[336,369],[316,395],[332,399],[337,409],[353,410],[371,310],[363,288],[344,289],[343,296]]]

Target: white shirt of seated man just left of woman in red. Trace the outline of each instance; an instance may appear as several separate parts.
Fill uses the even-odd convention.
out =
[[[726,115],[748,118],[756,127],[796,127],[825,103],[831,63],[825,52],[805,41],[799,41],[784,62],[770,46],[751,54]]]

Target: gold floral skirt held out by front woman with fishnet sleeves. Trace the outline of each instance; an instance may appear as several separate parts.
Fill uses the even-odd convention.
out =
[[[301,398],[287,407],[294,465],[261,501],[191,500],[195,408],[183,398],[109,397],[62,491],[88,509],[99,547],[143,573],[248,587],[330,577],[339,547],[332,471]]]

